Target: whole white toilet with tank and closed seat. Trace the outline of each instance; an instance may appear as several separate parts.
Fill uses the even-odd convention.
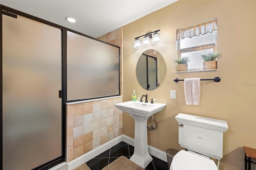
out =
[[[170,170],[218,170],[222,158],[223,132],[226,121],[179,113],[179,144],[181,150],[172,159]],[[210,158],[218,160],[218,166]]]

